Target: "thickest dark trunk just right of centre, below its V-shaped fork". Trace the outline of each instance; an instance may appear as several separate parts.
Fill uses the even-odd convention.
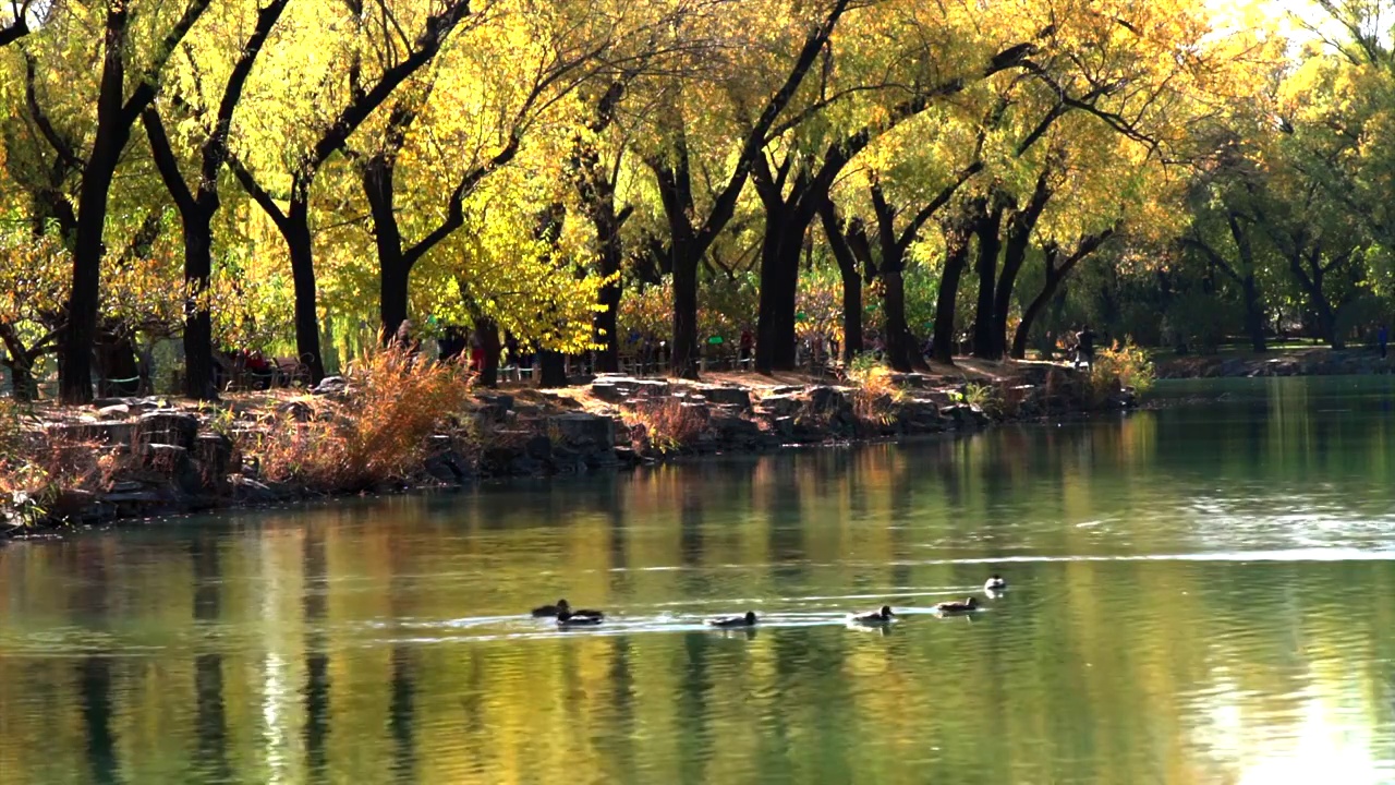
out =
[[[766,212],[767,219],[777,214]],[[783,215],[794,221],[790,215]],[[804,230],[785,223],[767,229],[760,247],[760,313],[756,320],[756,370],[794,370],[795,313],[798,310],[799,253]]]

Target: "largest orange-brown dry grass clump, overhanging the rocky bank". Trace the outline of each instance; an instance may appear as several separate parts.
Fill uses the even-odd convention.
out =
[[[304,398],[239,444],[261,476],[338,492],[407,479],[430,437],[472,394],[462,365],[428,363],[400,348],[365,353],[346,377],[343,397]]]

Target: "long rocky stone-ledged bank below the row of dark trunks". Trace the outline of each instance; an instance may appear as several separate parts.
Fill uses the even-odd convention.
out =
[[[710,374],[703,383],[603,374],[558,390],[480,390],[460,416],[469,439],[437,433],[403,476],[338,489],[273,482],[262,476],[251,446],[268,427],[300,427],[315,398],[343,398],[350,386],[343,379],[308,394],[247,395],[215,406],[121,398],[36,411],[46,446],[103,453],[112,467],[99,480],[29,500],[28,510],[0,503],[0,542],[218,510],[462,490],[512,478],[914,443],[1137,406],[1133,391],[1117,383],[1101,397],[1088,374],[1049,363],[887,374],[875,388],[799,381],[791,374]]]

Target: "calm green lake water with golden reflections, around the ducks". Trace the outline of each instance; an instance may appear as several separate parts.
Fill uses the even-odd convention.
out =
[[[1207,390],[11,543],[0,781],[1395,781],[1395,388]],[[972,619],[910,612],[992,570]],[[614,623],[520,616],[558,596]]]

